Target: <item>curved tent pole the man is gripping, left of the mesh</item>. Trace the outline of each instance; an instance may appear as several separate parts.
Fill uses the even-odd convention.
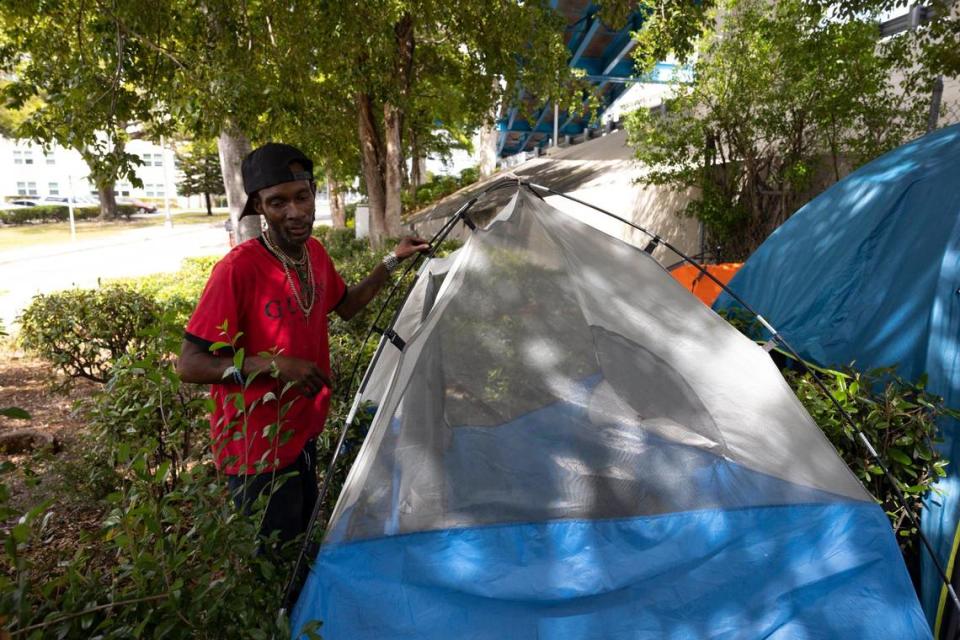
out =
[[[343,443],[346,441],[347,433],[350,431],[350,426],[353,424],[353,419],[356,417],[357,409],[360,405],[360,398],[363,395],[363,391],[366,388],[367,382],[370,380],[370,374],[372,373],[374,367],[376,366],[377,360],[380,358],[380,354],[383,352],[385,343],[388,340],[388,335],[393,332],[393,326],[397,322],[397,318],[400,315],[400,310],[403,308],[403,304],[399,305],[397,310],[393,314],[393,318],[390,320],[390,325],[386,329],[380,329],[378,323],[383,317],[384,312],[387,310],[387,307],[390,304],[390,300],[393,298],[394,294],[400,287],[400,284],[404,281],[407,275],[414,270],[415,267],[419,264],[421,267],[429,262],[437,253],[437,249],[440,248],[440,245],[444,240],[447,239],[447,236],[456,226],[457,222],[463,221],[470,229],[476,230],[476,225],[473,221],[467,216],[467,213],[473,207],[476,202],[487,195],[492,191],[497,189],[502,189],[503,187],[516,185],[518,188],[521,184],[521,181],[514,177],[510,176],[506,180],[497,181],[494,184],[490,185],[477,195],[473,196],[468,200],[462,207],[457,209],[457,211],[447,220],[442,227],[430,238],[429,245],[430,250],[426,254],[420,254],[407,265],[403,270],[403,273],[400,274],[400,277],[397,278],[396,282],[390,288],[390,291],[387,293],[387,297],[384,298],[383,303],[380,305],[380,310],[377,312],[376,317],[373,319],[373,322],[370,323],[369,329],[363,338],[363,342],[360,343],[360,349],[357,351],[357,356],[354,359],[353,369],[348,378],[347,386],[344,387],[344,400],[349,399],[350,389],[353,387],[353,381],[357,377],[357,371],[360,368],[360,363],[363,358],[363,347],[366,346],[367,341],[370,339],[370,336],[374,332],[381,333],[380,344],[377,345],[377,350],[373,355],[373,358],[370,360],[370,364],[367,366],[366,373],[364,373],[363,379],[360,381],[360,387],[357,389],[357,393],[354,396],[353,404],[350,407],[350,412],[347,414],[347,419],[344,421],[343,430],[340,432],[340,437],[337,439],[337,446],[333,450],[333,455],[330,457],[330,462],[327,464],[327,472],[323,477],[323,484],[320,485],[320,493],[317,496],[317,501],[313,505],[313,512],[310,514],[310,521],[307,524],[306,535],[303,539],[303,545],[300,547],[300,553],[297,556],[297,562],[294,564],[293,573],[290,576],[290,579],[287,581],[287,586],[284,589],[283,600],[280,605],[280,615],[283,616],[287,611],[290,610],[290,607],[293,605],[291,600],[293,599],[294,592],[298,590],[298,587],[302,585],[306,573],[306,558],[311,552],[315,549],[313,543],[310,542],[310,538],[313,535],[313,530],[316,528],[317,518],[320,515],[320,508],[323,504],[324,499],[327,496],[327,492],[330,489],[330,479],[333,477],[334,469],[337,465],[337,460],[340,458],[340,451],[343,449]],[[420,260],[421,257],[424,257],[424,260]],[[414,279],[404,294],[404,301],[407,297],[410,296],[410,292],[413,290],[413,286],[416,284],[416,279]]]

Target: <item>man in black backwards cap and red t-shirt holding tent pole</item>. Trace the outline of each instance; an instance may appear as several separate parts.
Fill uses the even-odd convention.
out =
[[[177,372],[185,382],[211,385],[217,466],[238,506],[270,496],[261,533],[277,531],[286,542],[306,530],[317,498],[315,438],[331,396],[327,314],[352,318],[401,261],[429,245],[404,238],[347,287],[310,235],[313,162],[295,147],[269,143],[244,158],[242,173],[247,203],[240,217],[261,215],[267,230],[214,267],[187,324]]]

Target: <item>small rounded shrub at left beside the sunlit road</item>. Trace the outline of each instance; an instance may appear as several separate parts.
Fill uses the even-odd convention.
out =
[[[160,307],[126,287],[72,289],[35,296],[20,316],[20,343],[72,378],[106,382],[124,354],[140,353],[140,334]]]

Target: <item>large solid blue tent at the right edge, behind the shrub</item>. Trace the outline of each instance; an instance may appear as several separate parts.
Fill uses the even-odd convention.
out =
[[[805,358],[860,369],[898,365],[960,407],[960,125],[930,133],[861,167],[790,217],[744,263],[731,289]],[[721,296],[716,308],[733,303]],[[944,425],[951,463],[923,530],[942,566],[960,517],[958,425]],[[954,552],[955,553],[955,552]],[[941,581],[922,557],[928,619]]]

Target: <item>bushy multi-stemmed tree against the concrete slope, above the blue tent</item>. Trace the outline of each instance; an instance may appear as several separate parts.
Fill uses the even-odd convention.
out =
[[[686,213],[723,259],[743,259],[824,182],[922,130],[890,84],[867,19],[803,0],[727,0],[694,82],[628,120],[652,184],[695,187]]]

